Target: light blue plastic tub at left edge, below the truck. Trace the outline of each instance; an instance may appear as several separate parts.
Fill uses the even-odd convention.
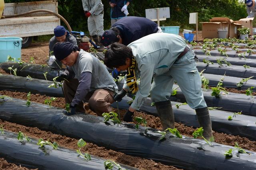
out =
[[[7,60],[8,55],[12,58],[21,58],[22,38],[0,37],[0,63]]]

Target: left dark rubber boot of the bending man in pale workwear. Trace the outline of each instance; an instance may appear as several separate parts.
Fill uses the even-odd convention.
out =
[[[165,129],[174,128],[174,114],[172,111],[172,104],[170,100],[163,102],[155,102],[156,110],[159,115],[160,121],[163,126],[163,131]]]

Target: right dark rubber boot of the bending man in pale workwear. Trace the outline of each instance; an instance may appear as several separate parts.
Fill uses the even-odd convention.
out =
[[[199,126],[203,127],[203,136],[209,140],[212,137],[212,121],[208,111],[208,107],[196,109],[196,115],[198,117]]]

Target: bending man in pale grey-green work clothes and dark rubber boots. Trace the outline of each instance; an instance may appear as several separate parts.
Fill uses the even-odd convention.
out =
[[[136,98],[124,115],[124,121],[132,121],[134,111],[140,109],[150,94],[163,129],[174,128],[174,113],[169,98],[176,80],[188,105],[196,109],[204,137],[212,137],[212,123],[202,94],[202,82],[195,58],[196,55],[182,37],[169,33],[147,35],[128,46],[119,43],[110,45],[105,53],[106,66],[118,71],[127,70],[126,84],[116,96],[117,101],[122,100],[128,90],[136,92]],[[136,82],[138,77],[140,88]]]

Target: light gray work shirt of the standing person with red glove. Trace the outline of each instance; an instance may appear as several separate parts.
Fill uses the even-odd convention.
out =
[[[99,15],[103,12],[103,4],[101,0],[82,0],[84,11],[88,11],[91,15]]]

